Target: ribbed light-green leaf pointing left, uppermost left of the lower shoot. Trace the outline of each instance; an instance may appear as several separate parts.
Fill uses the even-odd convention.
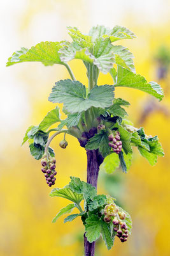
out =
[[[83,195],[80,195],[76,192],[74,192],[69,186],[66,186],[64,188],[54,188],[52,189],[50,196],[59,196],[62,198],[66,198],[75,204],[80,204],[81,200],[83,200]]]

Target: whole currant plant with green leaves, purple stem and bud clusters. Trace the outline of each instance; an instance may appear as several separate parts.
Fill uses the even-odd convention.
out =
[[[29,142],[31,155],[41,159],[41,171],[49,187],[55,184],[57,172],[55,154],[50,142],[60,133],[64,139],[61,148],[67,147],[66,134],[74,136],[87,152],[87,182],[71,177],[71,182],[64,188],[54,188],[50,196],[60,196],[72,203],[60,210],[55,222],[62,214],[69,214],[74,208],[78,213],[67,216],[64,222],[81,217],[85,226],[85,255],[94,255],[95,241],[102,236],[111,249],[115,236],[120,241],[127,241],[131,234],[132,221],[127,212],[115,204],[115,198],[97,195],[97,177],[99,169],[112,173],[119,166],[124,173],[129,170],[132,161],[132,147],[138,147],[141,156],[146,157],[151,165],[157,163],[158,156],[164,152],[157,136],[147,136],[143,128],[136,128],[127,120],[124,107],[130,105],[124,99],[115,99],[115,88],[125,86],[149,93],[162,100],[164,97],[159,84],[148,83],[136,74],[133,55],[122,45],[115,42],[132,39],[136,36],[129,29],[115,26],[113,29],[96,26],[84,35],[77,28],[68,28],[72,42],[41,42],[31,49],[22,47],[8,59],[7,66],[25,61],[41,61],[45,66],[64,65],[71,79],[55,83],[48,100],[63,103],[62,111],[67,115],[60,119],[58,106],[47,113],[39,125],[30,126],[24,136]],[[87,68],[88,88],[76,81],[67,64],[73,59],[82,60]],[[97,85],[99,73],[110,73],[113,84]],[[56,124],[54,129],[51,125]],[[50,134],[52,136],[50,136]],[[50,136],[50,138],[49,138]],[[84,200],[82,209],[81,201]]]

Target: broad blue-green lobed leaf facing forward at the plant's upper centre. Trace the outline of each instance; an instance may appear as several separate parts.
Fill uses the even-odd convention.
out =
[[[64,103],[70,113],[81,113],[91,106],[106,108],[112,104],[114,87],[111,85],[95,86],[86,97],[85,86],[79,81],[60,80],[55,83],[49,100]]]

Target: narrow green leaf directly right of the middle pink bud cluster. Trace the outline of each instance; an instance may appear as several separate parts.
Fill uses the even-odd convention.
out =
[[[125,151],[125,154],[132,153],[132,147],[131,147],[131,137],[132,134],[128,132],[122,125],[119,125],[118,123],[115,124],[115,127],[118,128],[118,131],[120,132],[120,140],[122,141],[122,147]]]

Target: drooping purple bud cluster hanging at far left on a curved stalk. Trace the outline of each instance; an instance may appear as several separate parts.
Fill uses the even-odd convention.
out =
[[[43,156],[41,160],[41,165],[43,166],[41,171],[45,173],[46,184],[48,184],[49,187],[55,184],[56,178],[54,176],[57,174],[55,171],[55,163],[55,158],[51,156],[48,156],[48,159],[46,156]]]

